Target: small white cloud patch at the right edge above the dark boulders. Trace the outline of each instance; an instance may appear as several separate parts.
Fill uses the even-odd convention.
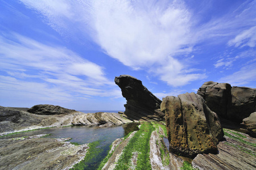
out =
[[[234,45],[235,47],[238,47],[238,46],[254,47],[256,45],[256,26],[241,32],[234,39],[230,40],[228,42],[228,45],[229,46]]]

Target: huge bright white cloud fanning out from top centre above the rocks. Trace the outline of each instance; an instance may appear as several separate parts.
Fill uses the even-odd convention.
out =
[[[175,87],[207,77],[184,59],[193,46],[228,43],[244,28],[253,28],[256,11],[255,1],[245,1],[224,16],[202,21],[207,10],[192,11],[185,1],[20,1],[61,35],[90,37],[123,65],[145,70]],[[253,30],[248,30],[228,44],[250,39],[247,45],[253,45]],[[219,61],[215,67],[231,64]]]

